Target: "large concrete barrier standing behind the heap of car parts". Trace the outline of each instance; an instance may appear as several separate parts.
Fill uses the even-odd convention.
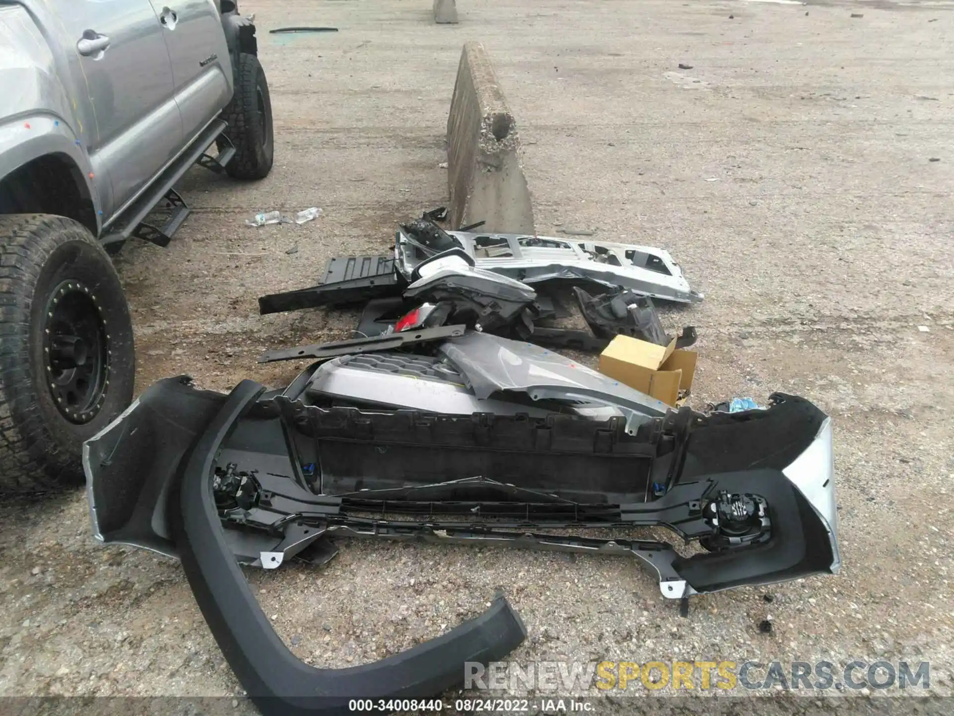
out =
[[[467,42],[447,117],[447,183],[453,228],[534,234],[533,207],[520,162],[517,125],[490,57]]]

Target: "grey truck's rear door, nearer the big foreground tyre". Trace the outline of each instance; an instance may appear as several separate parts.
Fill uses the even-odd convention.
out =
[[[89,149],[113,187],[105,219],[182,148],[182,118],[162,25],[149,0],[62,0],[93,104]]]

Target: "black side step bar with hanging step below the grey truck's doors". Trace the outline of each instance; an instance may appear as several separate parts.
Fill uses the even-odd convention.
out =
[[[159,246],[169,243],[170,238],[182,225],[182,221],[189,216],[190,211],[182,198],[173,191],[173,186],[205,154],[206,148],[221,135],[226,126],[226,122],[222,119],[212,121],[142,194],[122,210],[104,231],[100,243],[108,251],[114,251],[133,236],[154,242]],[[160,205],[160,202],[163,203]],[[157,207],[173,210],[161,229],[146,221],[149,214]]]

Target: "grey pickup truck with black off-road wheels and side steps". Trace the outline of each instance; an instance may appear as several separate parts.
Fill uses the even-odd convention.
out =
[[[170,241],[193,164],[270,171],[257,53],[235,0],[0,0],[0,491],[81,480],[132,400],[109,254]]]

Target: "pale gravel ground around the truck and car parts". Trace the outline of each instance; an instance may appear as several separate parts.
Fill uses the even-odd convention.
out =
[[[949,694],[954,4],[458,5],[459,25],[435,26],[427,0],[241,3],[275,169],[192,172],[175,241],[117,258],[137,390],[183,372],[283,385],[302,366],[258,366],[261,351],[348,335],[355,312],[259,317],[256,299],[314,283],[331,256],[385,251],[396,221],[446,201],[447,106],[479,39],[519,122],[538,231],[664,246],[705,292],[664,315],[699,329],[691,404],[782,390],[833,416],[844,566],[697,597],[680,619],[625,559],[345,541],[321,569],[248,573],[282,638],[309,663],[367,663],[502,590],[529,631],[520,663],[929,661],[931,693]],[[341,32],[265,32],[309,24]],[[243,223],[311,205],[324,216],[302,226]],[[0,510],[0,694],[240,695],[174,560],[97,546],[80,491]]]

